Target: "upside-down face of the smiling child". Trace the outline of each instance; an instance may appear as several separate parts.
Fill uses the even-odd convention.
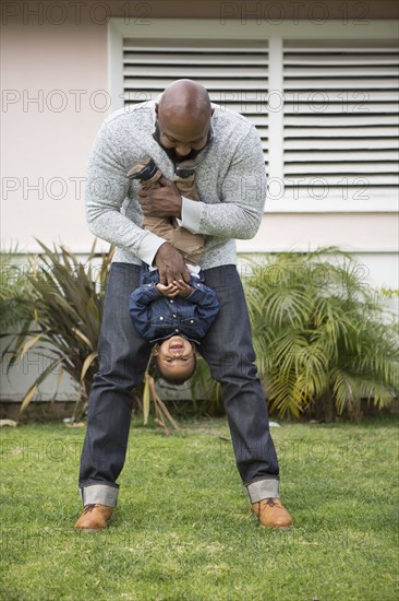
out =
[[[185,338],[172,335],[154,351],[159,370],[166,378],[189,378],[195,363],[195,346]]]

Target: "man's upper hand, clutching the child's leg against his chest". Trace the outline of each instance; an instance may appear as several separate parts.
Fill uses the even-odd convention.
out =
[[[161,177],[158,188],[144,188],[138,191],[138,202],[146,217],[179,217],[181,219],[182,198],[176,184]]]

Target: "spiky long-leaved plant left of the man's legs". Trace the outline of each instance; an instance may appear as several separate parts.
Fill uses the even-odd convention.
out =
[[[82,410],[98,368],[97,342],[113,249],[101,256],[97,267],[94,246],[82,264],[65,247],[50,250],[37,241],[43,252],[39,258],[31,258],[27,279],[33,294],[25,298],[25,321],[3,357],[8,369],[28,352],[47,360],[46,368],[24,396],[21,411],[56,369],[59,382],[64,372],[77,382],[81,394],[76,409]]]

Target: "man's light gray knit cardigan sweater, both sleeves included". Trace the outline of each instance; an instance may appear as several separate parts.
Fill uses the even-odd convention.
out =
[[[259,137],[239,114],[214,105],[213,141],[196,157],[200,202],[183,198],[181,225],[205,236],[203,269],[235,263],[234,238],[252,238],[266,199],[266,173]],[[152,156],[164,175],[173,164],[154,140],[155,101],[123,108],[102,123],[94,142],[86,179],[90,232],[111,244],[113,261],[153,263],[165,240],[141,228],[138,182],[126,173]]]

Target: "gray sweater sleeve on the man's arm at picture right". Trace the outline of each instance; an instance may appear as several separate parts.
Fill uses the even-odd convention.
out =
[[[221,201],[183,198],[181,225],[192,234],[250,239],[261,225],[265,200],[265,161],[261,139],[252,126],[230,163]]]

